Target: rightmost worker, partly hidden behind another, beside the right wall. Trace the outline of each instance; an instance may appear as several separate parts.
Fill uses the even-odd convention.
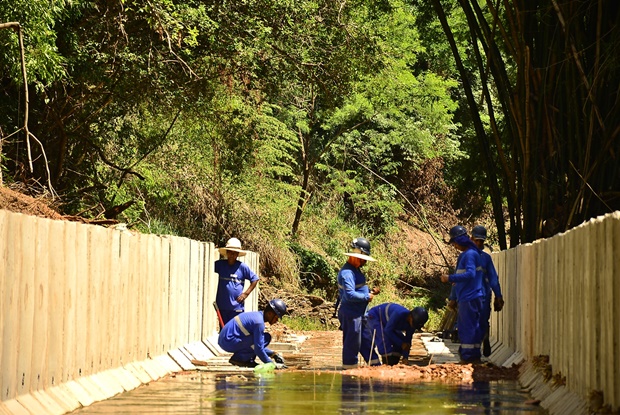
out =
[[[480,313],[480,330],[483,334],[482,354],[486,357],[491,355],[491,342],[489,341],[489,319],[491,318],[491,292],[495,294],[493,308],[501,311],[504,307],[502,289],[499,285],[497,271],[493,265],[491,255],[484,251],[484,241],[487,239],[487,230],[484,226],[474,226],[471,230],[471,240],[474,241],[480,250],[480,261],[482,267],[482,289],[484,292],[484,303]]]

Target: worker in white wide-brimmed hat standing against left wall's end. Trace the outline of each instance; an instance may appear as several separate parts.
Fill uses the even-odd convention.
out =
[[[215,261],[215,272],[219,275],[215,304],[223,326],[245,311],[244,301],[258,285],[259,278],[247,264],[237,259],[247,253],[241,249],[239,239],[230,238],[226,246],[218,250],[223,258]],[[246,280],[250,285],[244,291]]]

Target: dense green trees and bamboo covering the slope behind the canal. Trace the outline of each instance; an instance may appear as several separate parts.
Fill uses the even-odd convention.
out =
[[[2,2],[3,179],[317,290],[397,223],[532,241],[620,207],[616,3]]]

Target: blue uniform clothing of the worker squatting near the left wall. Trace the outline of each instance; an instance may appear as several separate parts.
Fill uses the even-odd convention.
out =
[[[264,332],[263,312],[247,311],[224,325],[217,343],[231,353],[254,346],[256,356],[264,363],[269,363],[272,361],[269,355],[273,352],[265,346]]]

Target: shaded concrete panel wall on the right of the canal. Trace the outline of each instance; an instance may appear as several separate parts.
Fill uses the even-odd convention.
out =
[[[491,318],[491,361],[551,413],[620,410],[620,212],[497,252],[504,309]]]

